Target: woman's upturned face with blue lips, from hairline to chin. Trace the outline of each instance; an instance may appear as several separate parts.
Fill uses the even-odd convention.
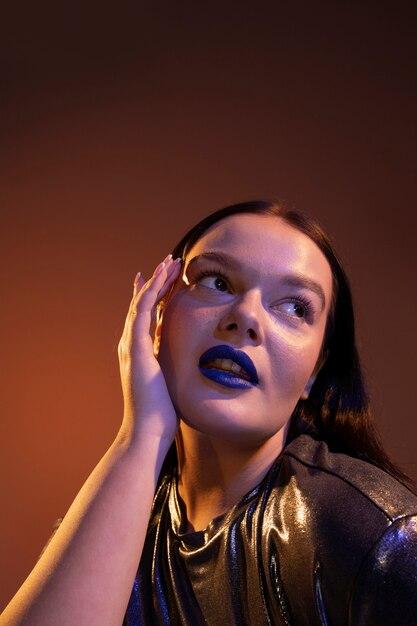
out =
[[[284,220],[214,224],[187,255],[157,327],[179,417],[247,445],[280,433],[314,382],[331,297],[325,256]]]

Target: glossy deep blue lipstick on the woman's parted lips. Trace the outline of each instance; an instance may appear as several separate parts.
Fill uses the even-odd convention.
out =
[[[230,359],[241,367],[244,372],[219,369],[216,364],[210,365],[216,359]],[[207,367],[207,365],[210,365]],[[203,376],[220,385],[232,389],[250,389],[259,384],[258,373],[254,362],[242,350],[235,350],[228,345],[214,346],[206,350],[199,361],[199,369]]]

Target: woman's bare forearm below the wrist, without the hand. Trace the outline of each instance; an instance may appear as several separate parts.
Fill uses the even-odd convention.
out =
[[[120,626],[170,441],[118,436],[95,468],[1,626]]]

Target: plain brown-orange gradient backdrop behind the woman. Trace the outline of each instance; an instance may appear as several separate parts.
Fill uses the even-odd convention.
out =
[[[231,202],[286,198],[333,235],[381,436],[417,478],[415,2],[18,7],[0,33],[0,606],[117,432],[136,271]]]

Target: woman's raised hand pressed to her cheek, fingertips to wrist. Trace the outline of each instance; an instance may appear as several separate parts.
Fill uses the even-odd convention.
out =
[[[134,283],[122,338],[119,343],[120,375],[124,397],[123,431],[129,437],[156,435],[172,441],[178,419],[154,354],[151,329],[158,303],[178,278],[180,259],[168,255],[145,282],[140,273]]]

